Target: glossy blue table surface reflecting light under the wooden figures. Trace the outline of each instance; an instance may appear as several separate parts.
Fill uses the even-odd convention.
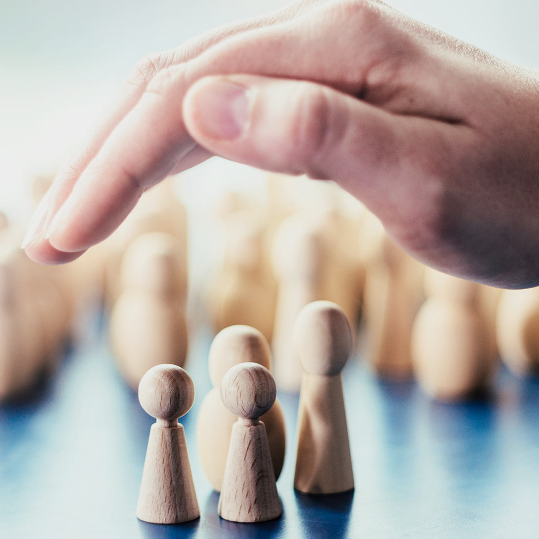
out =
[[[30,400],[0,407],[0,537],[129,539],[539,537],[539,381],[502,371],[492,395],[431,402],[410,382],[390,384],[357,358],[344,372],[356,489],[294,491],[296,396],[277,483],[283,516],[238,524],[217,515],[202,471],[197,411],[210,388],[209,335],[191,343],[195,404],[182,418],[201,517],[160,526],[135,517],[153,419],[122,382],[99,320]]]

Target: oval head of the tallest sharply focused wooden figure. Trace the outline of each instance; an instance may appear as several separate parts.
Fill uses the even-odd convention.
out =
[[[299,361],[309,374],[341,372],[352,349],[352,333],[344,311],[331,301],[313,301],[301,309],[293,330]]]

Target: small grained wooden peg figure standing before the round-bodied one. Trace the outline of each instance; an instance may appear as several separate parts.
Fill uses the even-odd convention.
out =
[[[234,522],[263,522],[282,514],[264,423],[275,401],[271,373],[258,363],[232,367],[221,385],[223,404],[238,416],[232,427],[218,511]]]

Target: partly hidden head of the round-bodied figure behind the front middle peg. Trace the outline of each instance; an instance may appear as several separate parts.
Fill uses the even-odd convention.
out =
[[[251,326],[229,326],[213,339],[208,356],[211,383],[218,388],[225,372],[239,363],[258,363],[271,369],[271,350],[266,337]]]

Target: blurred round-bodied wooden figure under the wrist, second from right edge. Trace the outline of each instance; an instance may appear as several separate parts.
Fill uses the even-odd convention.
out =
[[[496,370],[479,285],[425,271],[427,300],[412,331],[414,372],[438,400],[459,400],[488,389]]]

